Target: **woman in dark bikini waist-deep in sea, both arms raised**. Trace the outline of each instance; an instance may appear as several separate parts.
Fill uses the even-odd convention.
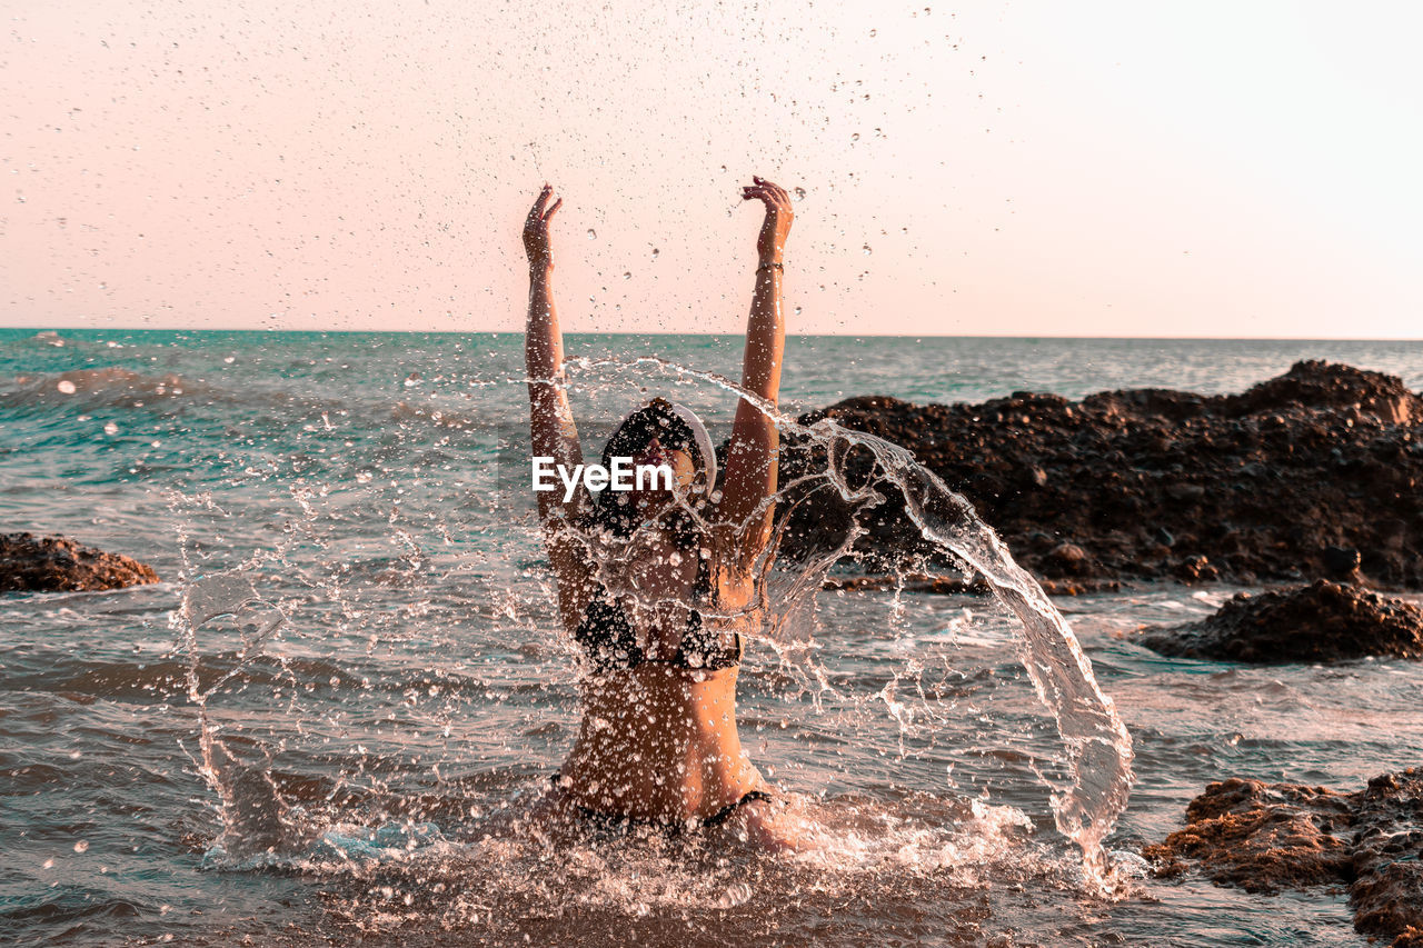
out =
[[[524,223],[529,258],[525,356],[534,455],[583,463],[568,404],[554,310],[549,221],[562,199],[544,186]],[[766,206],[746,327],[743,389],[774,406],[785,327],[781,255],[791,202],[753,178],[741,198]],[[724,828],[768,847],[795,846],[781,801],[751,764],[736,726],[743,632],[758,616],[756,574],[771,538],[778,434],[763,406],[737,404],[717,483],[712,440],[687,409],[655,399],[609,438],[612,458],[667,465],[676,483],[636,491],[538,494],[564,626],[582,646],[583,720],[539,810],[595,827]],[[778,826],[781,824],[781,826]]]

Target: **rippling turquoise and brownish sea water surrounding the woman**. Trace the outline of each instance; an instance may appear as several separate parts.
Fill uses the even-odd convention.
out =
[[[724,434],[730,396],[676,367],[734,377],[740,339],[568,349],[589,431],[672,393]],[[1299,359],[1423,389],[1419,342],[795,337],[783,404],[1239,391]],[[832,851],[484,838],[578,723],[539,538],[499,490],[521,363],[518,335],[0,330],[3,530],[164,578],[0,598],[0,942],[1366,944],[1342,892],[1140,873],[1211,780],[1353,789],[1423,754],[1416,663],[1255,669],[1123,638],[1229,588],[1057,602],[1136,746],[1114,897],[1053,828],[1062,742],[1016,621],[973,596],[821,594],[808,658],[753,645],[743,740]],[[185,588],[218,574],[236,618],[185,628]],[[213,734],[300,846],[221,846]]]

